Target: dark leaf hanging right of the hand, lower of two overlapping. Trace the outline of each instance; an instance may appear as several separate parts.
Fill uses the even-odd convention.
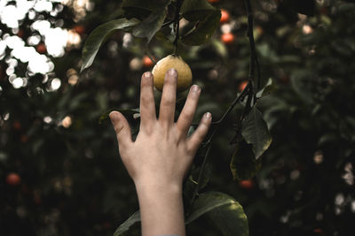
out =
[[[254,157],[252,146],[244,140],[240,141],[234,149],[230,164],[233,180],[253,178],[261,169],[259,160]]]

